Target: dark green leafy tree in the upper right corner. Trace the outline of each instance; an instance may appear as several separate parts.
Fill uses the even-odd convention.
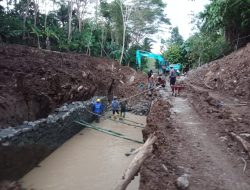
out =
[[[224,34],[226,40],[240,46],[250,41],[250,0],[214,0],[200,14],[201,30]]]

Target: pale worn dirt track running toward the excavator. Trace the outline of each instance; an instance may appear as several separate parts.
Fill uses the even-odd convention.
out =
[[[185,98],[173,98],[172,112],[181,136],[177,165],[190,175],[190,189],[250,189],[244,163],[231,155],[211,125],[201,119]]]

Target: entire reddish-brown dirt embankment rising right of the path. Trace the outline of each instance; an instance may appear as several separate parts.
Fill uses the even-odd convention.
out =
[[[226,135],[228,146],[239,152],[229,134],[250,133],[250,44],[191,71],[186,82],[199,115],[218,122],[214,130]]]

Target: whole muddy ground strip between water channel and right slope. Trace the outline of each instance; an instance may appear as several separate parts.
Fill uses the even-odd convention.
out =
[[[230,103],[230,98],[223,99],[216,92],[189,93],[173,97],[169,88],[159,91],[161,98],[152,105],[144,130],[144,138],[155,133],[158,140],[153,155],[142,167],[140,190],[176,190],[176,181],[184,174],[188,176],[190,190],[250,189],[247,154],[226,132],[228,129],[239,132],[237,122],[231,122],[237,109],[231,113],[226,106],[210,105],[218,99]],[[217,117],[223,116],[225,110],[230,112],[229,118]]]

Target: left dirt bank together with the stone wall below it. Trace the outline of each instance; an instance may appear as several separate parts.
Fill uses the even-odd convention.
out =
[[[144,74],[109,59],[0,46],[0,179],[18,179],[80,130],[73,120],[89,113],[79,111],[85,104],[75,101],[127,98],[144,91],[146,81]],[[144,97],[131,99],[129,109],[147,113]],[[18,188],[0,182],[0,189]]]

